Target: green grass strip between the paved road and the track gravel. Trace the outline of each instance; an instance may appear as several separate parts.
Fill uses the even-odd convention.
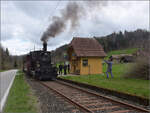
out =
[[[36,113],[36,102],[37,98],[33,96],[29,85],[24,80],[24,74],[21,71],[18,71],[10,90],[4,112]]]

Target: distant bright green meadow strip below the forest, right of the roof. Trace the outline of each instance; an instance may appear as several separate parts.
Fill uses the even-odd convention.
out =
[[[108,52],[107,55],[111,56],[111,55],[119,55],[119,54],[132,54],[132,53],[135,53],[137,50],[138,50],[138,48],[115,50],[115,51]]]

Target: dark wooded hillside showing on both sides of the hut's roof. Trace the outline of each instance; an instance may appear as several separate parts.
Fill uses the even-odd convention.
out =
[[[112,33],[107,36],[93,37],[108,53],[112,50],[120,50],[127,48],[149,48],[150,32],[147,30],[137,29],[135,31],[124,31]],[[64,62],[64,54],[66,53],[68,45],[63,45],[52,52],[52,59],[54,63]]]

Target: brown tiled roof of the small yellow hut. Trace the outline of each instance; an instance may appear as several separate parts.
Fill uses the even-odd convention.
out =
[[[76,55],[78,57],[105,57],[106,53],[104,52],[102,46],[95,38],[81,38],[74,37],[69,47],[73,47]]]

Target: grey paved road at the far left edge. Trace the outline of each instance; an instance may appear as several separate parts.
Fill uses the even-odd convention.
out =
[[[16,75],[17,70],[9,70],[5,72],[0,72],[0,106],[5,103],[5,99],[7,96],[6,92],[8,92],[8,88],[10,87],[13,78]],[[1,111],[1,108],[0,108]]]

